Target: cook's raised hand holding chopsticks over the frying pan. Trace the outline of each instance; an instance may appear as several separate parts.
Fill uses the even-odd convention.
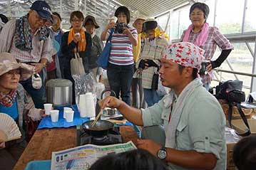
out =
[[[101,106],[101,109],[104,109],[105,107],[111,107],[111,108],[119,108],[121,107],[123,101],[118,100],[116,97],[108,96],[103,100],[98,101],[98,105]]]

